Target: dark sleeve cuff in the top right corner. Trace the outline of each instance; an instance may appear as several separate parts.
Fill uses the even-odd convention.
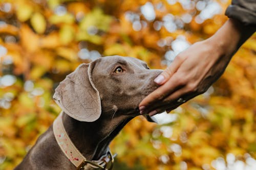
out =
[[[256,27],[256,0],[232,0],[225,15]]]

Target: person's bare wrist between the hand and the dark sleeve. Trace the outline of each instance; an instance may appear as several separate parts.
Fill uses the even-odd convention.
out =
[[[255,32],[255,27],[244,26],[242,22],[228,19],[225,24],[207,41],[216,46],[220,57],[229,57]]]

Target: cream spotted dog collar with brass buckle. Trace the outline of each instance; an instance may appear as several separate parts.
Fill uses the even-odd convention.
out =
[[[113,167],[114,157],[110,150],[106,152],[99,160],[90,161],[87,160],[75,147],[74,143],[69,138],[65,127],[62,122],[63,111],[58,115],[58,117],[53,122],[53,133],[54,137],[61,149],[61,151],[66,155],[66,157],[75,165],[76,169],[104,169],[110,170]]]

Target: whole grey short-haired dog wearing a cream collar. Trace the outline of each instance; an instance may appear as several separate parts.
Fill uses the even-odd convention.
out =
[[[138,105],[157,88],[153,80],[161,72],[131,57],[110,56],[81,64],[53,95],[62,109],[56,132],[53,124],[15,169],[111,169],[111,140],[140,115]],[[58,134],[58,126],[64,127],[63,133]],[[72,145],[69,140],[74,151],[66,150]],[[65,144],[68,147],[63,149]]]

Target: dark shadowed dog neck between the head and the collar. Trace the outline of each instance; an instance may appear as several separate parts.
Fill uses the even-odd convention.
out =
[[[120,130],[133,118],[115,113],[102,113],[95,122],[79,122],[63,114],[65,130],[79,152],[88,160],[98,160],[108,152],[110,142]]]

